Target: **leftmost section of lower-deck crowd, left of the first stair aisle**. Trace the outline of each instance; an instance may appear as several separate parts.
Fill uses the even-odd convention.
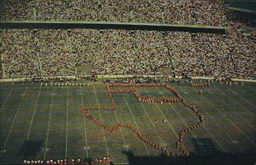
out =
[[[40,75],[34,37],[32,31],[28,29],[2,32],[2,63],[7,78]]]

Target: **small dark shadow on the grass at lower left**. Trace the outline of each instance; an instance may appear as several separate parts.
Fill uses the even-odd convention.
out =
[[[24,159],[35,158],[37,154],[42,151],[42,143],[43,143],[42,140],[27,141],[26,151],[24,154],[24,149],[26,144],[26,140],[25,140],[21,146],[21,149],[19,149],[18,156],[23,156],[24,154]]]

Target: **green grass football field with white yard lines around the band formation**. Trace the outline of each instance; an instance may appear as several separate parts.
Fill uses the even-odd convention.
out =
[[[81,106],[111,105],[106,87],[40,87],[39,83],[1,83],[1,164],[23,159],[96,159],[113,164],[249,164],[256,161],[256,84],[190,87],[172,84],[205,116],[205,125],[185,136],[189,158],[166,158],[130,130],[108,133],[87,120]],[[27,87],[27,88],[26,88]],[[138,88],[144,95],[172,96],[166,88]],[[109,126],[117,121],[137,128],[155,143],[177,151],[179,131],[198,123],[182,103],[142,103],[129,93],[114,94],[115,111],[89,111]],[[166,118],[167,123],[162,123]],[[154,121],[158,120],[157,123]]]

